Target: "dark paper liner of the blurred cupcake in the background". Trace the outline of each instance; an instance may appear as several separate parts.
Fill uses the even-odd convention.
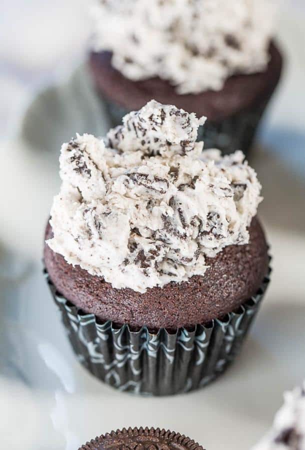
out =
[[[112,126],[120,125],[122,117],[130,112],[110,100],[103,98]],[[198,129],[197,140],[204,140],[204,148],[219,148],[223,154],[242,150],[245,155],[252,146],[256,129],[267,105],[267,101],[248,111],[241,111],[221,121],[209,121]]]

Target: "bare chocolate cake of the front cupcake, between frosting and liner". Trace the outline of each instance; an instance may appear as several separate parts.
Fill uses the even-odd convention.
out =
[[[230,245],[213,258],[204,276],[192,276],[188,282],[153,287],[145,293],[115,289],[100,276],[68,264],[63,256],[44,246],[44,263],[59,293],[73,304],[92,312],[101,321],[128,323],[132,328],[175,329],[207,324],[238,309],[255,294],[268,269],[267,244],[257,218],[249,227],[246,245]],[[45,238],[52,237],[47,225]]]

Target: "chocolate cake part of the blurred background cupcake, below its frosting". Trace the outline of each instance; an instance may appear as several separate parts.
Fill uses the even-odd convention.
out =
[[[160,103],[194,111],[198,116],[205,115],[209,124],[235,114],[246,114],[268,102],[282,68],[282,56],[274,42],[270,44],[269,54],[270,60],[264,71],[232,75],[220,90],[208,89],[196,94],[179,94],[173,85],[159,77],[130,80],[111,65],[109,51],[91,52],[89,63],[98,91],[126,112],[137,110],[155,98]]]

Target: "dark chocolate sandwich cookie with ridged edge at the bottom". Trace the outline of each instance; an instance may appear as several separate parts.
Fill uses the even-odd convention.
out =
[[[79,450],[104,450],[112,448],[117,450],[125,448],[141,448],[152,450],[154,448],[179,449],[179,450],[203,450],[203,447],[189,437],[174,431],[165,431],[160,428],[123,428],[111,431],[105,435],[95,437]]]

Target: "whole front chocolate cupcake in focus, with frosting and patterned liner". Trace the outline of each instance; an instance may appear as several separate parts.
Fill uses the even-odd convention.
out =
[[[204,120],[151,100],[61,147],[46,277],[79,360],[121,390],[214,379],[268,283],[256,173],[241,151],[202,151]]]

